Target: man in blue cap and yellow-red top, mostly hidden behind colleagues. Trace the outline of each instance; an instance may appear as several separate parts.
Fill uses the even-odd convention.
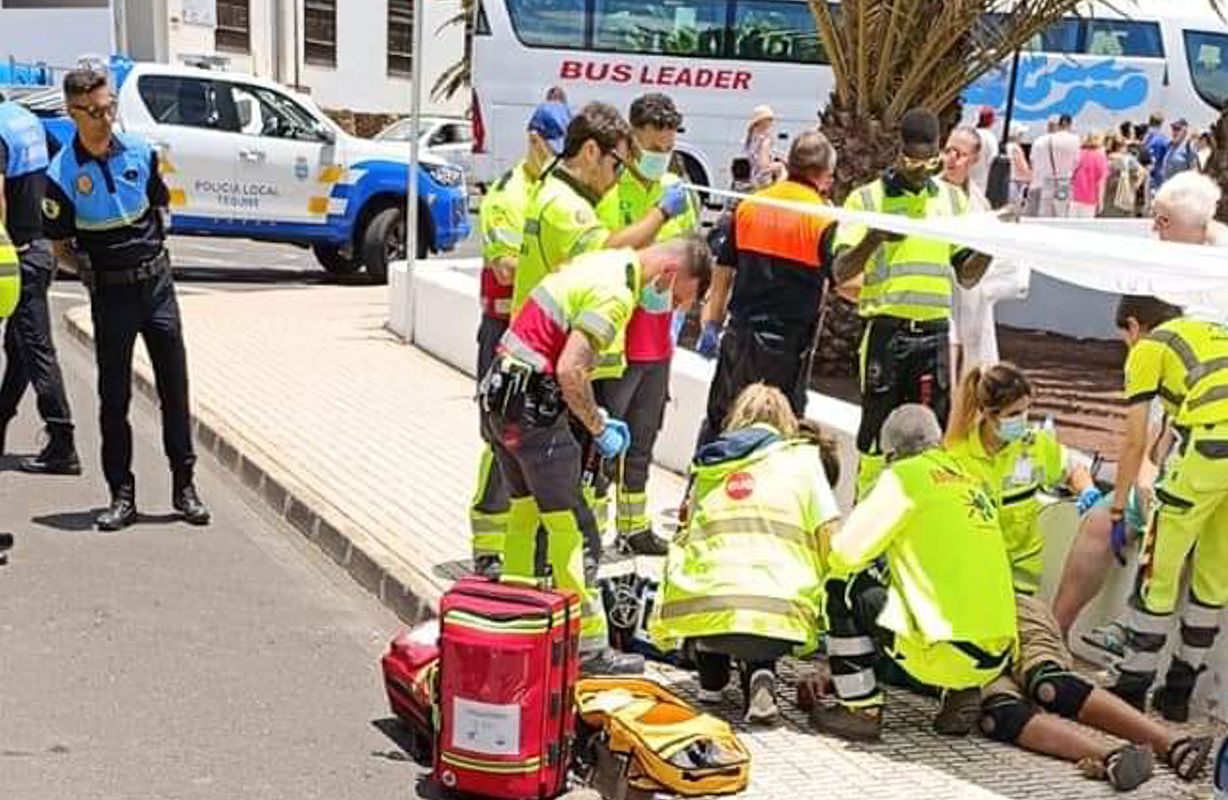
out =
[[[519,258],[524,213],[546,166],[562,147],[571,112],[559,103],[537,107],[528,123],[524,159],[486,189],[478,215],[481,230],[481,324],[478,328],[478,380],[495,359],[512,311],[512,280]],[[478,489],[469,509],[474,569],[497,570],[507,526],[507,490],[488,447],[478,469]]]

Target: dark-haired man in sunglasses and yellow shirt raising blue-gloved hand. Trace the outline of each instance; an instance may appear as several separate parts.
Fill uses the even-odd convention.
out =
[[[560,113],[564,107],[559,106]],[[670,187],[661,200],[634,225],[616,233],[602,225],[597,204],[609,192],[631,157],[631,129],[616,108],[588,103],[567,123],[555,165],[542,178],[524,213],[524,237],[516,262],[512,316],[529,292],[565,263],[594,249],[645,247],[661,227],[689,208],[686,190]]]

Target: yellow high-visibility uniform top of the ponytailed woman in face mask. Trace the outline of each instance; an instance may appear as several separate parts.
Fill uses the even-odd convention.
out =
[[[974,428],[965,440],[947,447],[990,485],[998,504],[1002,539],[1011,558],[1014,590],[1034,595],[1040,589],[1045,567],[1045,536],[1040,530],[1041,489],[1051,489],[1066,478],[1066,449],[1057,436],[1034,429],[996,453],[985,451]]]

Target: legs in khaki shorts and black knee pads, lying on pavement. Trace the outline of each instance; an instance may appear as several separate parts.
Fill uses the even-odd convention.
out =
[[[1210,736],[1179,737],[1074,671],[1074,659],[1043,602],[1018,595],[1019,654],[982,692],[981,732],[996,741],[1076,762],[1086,774],[1129,791],[1152,775],[1153,751],[1183,780],[1202,772]],[[1081,725],[1133,745],[1110,747]]]

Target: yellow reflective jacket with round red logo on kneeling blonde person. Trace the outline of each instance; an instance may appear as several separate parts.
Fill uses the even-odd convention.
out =
[[[680,639],[752,634],[815,646],[824,569],[809,442],[776,441],[712,466],[695,465],[695,504],[669,547],[648,633]]]

